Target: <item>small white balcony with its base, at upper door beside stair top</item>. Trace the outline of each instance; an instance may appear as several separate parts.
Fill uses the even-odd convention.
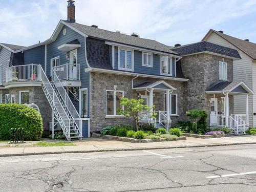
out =
[[[80,87],[80,65],[66,63],[64,65],[53,67],[59,80],[65,87]]]

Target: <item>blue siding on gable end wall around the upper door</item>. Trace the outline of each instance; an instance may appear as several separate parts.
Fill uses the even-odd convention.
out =
[[[63,29],[67,29],[67,34],[63,35]],[[66,44],[72,40],[78,39],[81,44],[81,47],[77,49],[77,63],[80,64],[80,73],[84,72],[84,68],[87,67],[86,64],[86,51],[85,51],[85,44],[84,44],[84,37],[79,33],[75,32],[74,30],[70,29],[67,26],[64,26],[58,37],[54,42],[47,45],[47,75],[50,76],[50,68],[51,68],[51,59],[54,57],[59,56],[59,64],[63,65],[65,63],[69,63],[69,60],[66,58],[66,54],[69,56],[69,52],[58,50],[58,46]],[[80,74],[80,75],[81,75]],[[82,76],[81,76],[82,77]]]

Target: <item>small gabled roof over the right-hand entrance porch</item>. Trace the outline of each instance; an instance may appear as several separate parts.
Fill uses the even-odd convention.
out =
[[[230,93],[230,94],[250,94],[253,95],[254,92],[245,84],[245,82],[226,82],[220,81],[209,86],[205,93],[208,94],[218,94],[218,93]]]

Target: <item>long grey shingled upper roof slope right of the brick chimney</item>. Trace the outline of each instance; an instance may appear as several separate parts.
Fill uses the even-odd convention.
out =
[[[69,25],[83,32],[89,37],[109,40],[112,42],[119,42],[121,44],[132,45],[132,46],[146,48],[150,50],[157,50],[161,52],[177,54],[175,51],[172,51],[171,47],[161,44],[156,40],[134,37],[131,35],[116,33],[113,31],[90,27],[90,26],[86,26],[78,23],[70,23],[70,22],[67,22],[67,20],[64,20],[64,22],[68,23]]]

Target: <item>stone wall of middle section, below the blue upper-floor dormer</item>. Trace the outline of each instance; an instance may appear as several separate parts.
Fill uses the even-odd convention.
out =
[[[145,92],[137,92],[132,90],[132,78],[131,76],[113,75],[103,73],[91,73],[91,132],[101,131],[106,125],[134,123],[130,118],[106,118],[106,103],[105,103],[105,91],[114,90],[114,86],[117,86],[117,90],[124,91],[124,96],[128,98],[138,98],[139,93],[144,95]],[[153,78],[136,78],[136,82],[141,81],[157,81],[159,79]],[[178,116],[172,117],[172,122],[175,123],[178,120],[184,119],[184,96],[183,82],[179,81],[167,81],[170,85],[177,90],[173,93],[178,93]],[[164,91],[154,92],[155,98],[153,99],[156,105],[156,110],[164,110]],[[149,94],[147,94],[149,95]]]

